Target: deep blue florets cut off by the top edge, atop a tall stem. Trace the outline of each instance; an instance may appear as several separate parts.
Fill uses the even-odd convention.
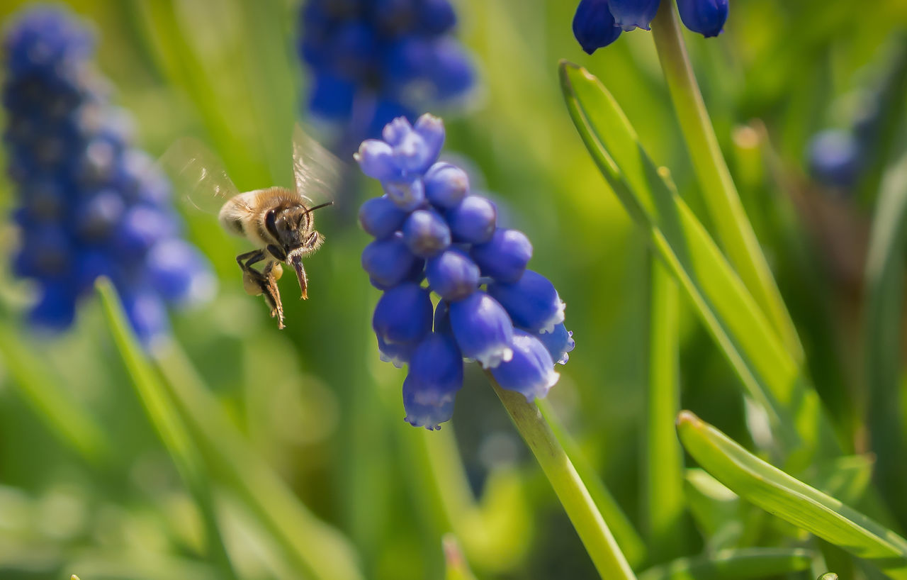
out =
[[[669,2],[670,0],[665,0]],[[727,0],[677,0],[680,20],[703,36],[721,34]],[[580,0],[573,16],[573,35],[589,54],[608,46],[621,32],[649,30],[661,0]]]

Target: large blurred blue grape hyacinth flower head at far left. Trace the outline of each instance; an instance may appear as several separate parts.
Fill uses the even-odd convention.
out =
[[[180,238],[170,184],[132,147],[132,121],[108,103],[90,61],[92,34],[73,15],[25,12],[4,49],[4,142],[21,232],[12,268],[39,289],[29,318],[67,328],[103,275],[150,347],[167,333],[165,302],[214,289],[208,262]]]

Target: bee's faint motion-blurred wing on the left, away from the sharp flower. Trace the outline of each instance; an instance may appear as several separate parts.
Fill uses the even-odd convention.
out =
[[[194,210],[217,215],[224,202],[239,193],[218,158],[190,137],[173,143],[160,163],[180,202]]]

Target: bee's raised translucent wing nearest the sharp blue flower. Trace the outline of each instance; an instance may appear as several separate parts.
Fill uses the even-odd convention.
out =
[[[293,177],[296,192],[309,202],[334,199],[343,163],[321,143],[309,137],[298,124],[293,129]]]

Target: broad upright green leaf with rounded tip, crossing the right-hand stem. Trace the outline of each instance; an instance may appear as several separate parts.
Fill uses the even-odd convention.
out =
[[[592,159],[630,216],[649,231],[746,392],[795,455],[791,461],[805,465],[816,449],[834,455],[838,446],[814,389],[667,171],[649,159],[614,98],[575,64],[561,63],[561,89]]]

